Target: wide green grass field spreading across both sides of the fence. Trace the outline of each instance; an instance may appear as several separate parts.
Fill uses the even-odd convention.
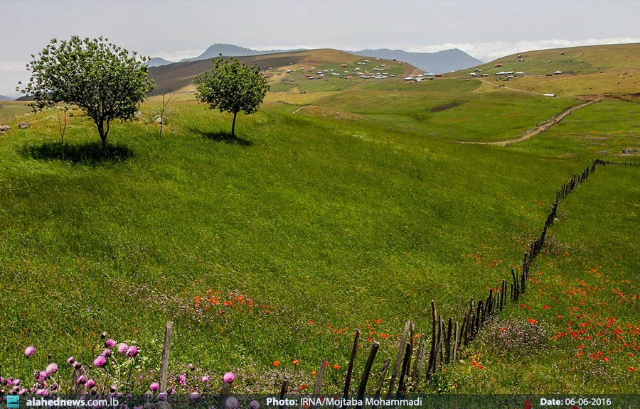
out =
[[[144,391],[156,378],[167,320],[172,374],[190,363],[198,374],[234,371],[239,391],[277,391],[285,374],[302,390],[322,358],[331,363],[327,388],[337,391],[356,327],[364,335],[356,373],[374,340],[382,358],[395,356],[406,319],[430,331],[431,300],[458,316],[470,296],[508,277],[555,190],[584,167],[559,157],[592,157],[585,133],[602,136],[597,149],[608,158],[636,141],[635,104],[600,102],[509,148],[454,143],[516,137],[578,103],[480,86],[445,79],[273,92],[257,114],[238,117],[237,139],[228,114],[188,93],[172,100],[159,137],[154,97],[142,119],[112,127],[113,160],[95,154],[95,126],[80,111],[69,119],[65,162],[55,111],[3,117],[12,126],[0,136],[3,376],[31,376],[48,353],[88,363],[107,331],[139,346],[144,376],[132,388]],[[17,129],[26,118],[31,128]],[[524,301],[531,310],[513,306],[502,317],[535,317],[545,329],[536,339],[553,348],[514,361],[475,342],[464,362],[421,391],[634,391],[636,373],[626,371],[637,367],[634,356],[598,369],[612,383],[592,376],[587,359],[554,366],[576,353],[575,339],[550,337],[576,313],[555,277],[595,280],[583,277],[585,266],[607,269],[598,296],[615,308],[599,318],[639,324],[635,301],[617,305],[609,291],[637,294],[637,172],[600,168],[562,202],[548,258],[535,264],[544,275]],[[38,354],[26,362],[29,345]],[[518,381],[514,372],[524,376],[533,359],[540,365],[528,366],[530,380]],[[585,374],[558,379],[573,366]]]

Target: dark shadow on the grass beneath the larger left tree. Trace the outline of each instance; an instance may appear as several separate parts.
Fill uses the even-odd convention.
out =
[[[24,158],[36,160],[62,160],[61,142],[44,142],[40,145],[26,145],[20,150]],[[65,143],[65,160],[78,165],[102,165],[121,163],[132,158],[133,151],[119,143],[109,144],[108,153],[102,153],[102,144],[89,142],[82,144]]]

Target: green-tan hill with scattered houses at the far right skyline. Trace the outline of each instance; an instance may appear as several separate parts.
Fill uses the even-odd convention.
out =
[[[565,97],[637,99],[639,67],[640,43],[631,43],[526,51],[459,70],[454,75],[484,75],[485,82],[496,85]]]

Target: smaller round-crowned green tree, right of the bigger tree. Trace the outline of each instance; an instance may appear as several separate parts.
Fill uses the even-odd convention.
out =
[[[265,99],[269,85],[257,66],[248,67],[235,58],[213,60],[213,71],[196,76],[196,98],[209,104],[209,109],[233,113],[231,137],[235,137],[238,112],[253,114]]]

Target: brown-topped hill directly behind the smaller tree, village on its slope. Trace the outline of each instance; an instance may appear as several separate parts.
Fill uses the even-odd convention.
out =
[[[272,86],[275,86],[274,90],[286,90],[296,87],[301,82],[306,83],[306,75],[309,73],[314,74],[316,80],[323,80],[323,85],[329,87],[338,80],[345,80],[348,76],[356,77],[353,80],[357,82],[360,80],[357,77],[360,73],[371,75],[378,72],[380,74],[388,73],[390,74],[388,79],[391,79],[415,75],[420,72],[416,67],[407,63],[382,58],[366,59],[359,55],[333,49],[248,55],[240,56],[238,60],[247,65],[257,65],[265,71],[265,77],[269,79]],[[177,62],[162,67],[151,67],[149,68],[149,76],[156,82],[154,94],[173,92],[185,87],[188,87],[188,90],[194,89],[193,77],[210,70],[212,67],[213,64],[210,60]],[[319,70],[326,70],[326,72],[319,75]],[[348,83],[354,84],[355,82]],[[345,84],[345,82],[343,81],[341,84]]]

